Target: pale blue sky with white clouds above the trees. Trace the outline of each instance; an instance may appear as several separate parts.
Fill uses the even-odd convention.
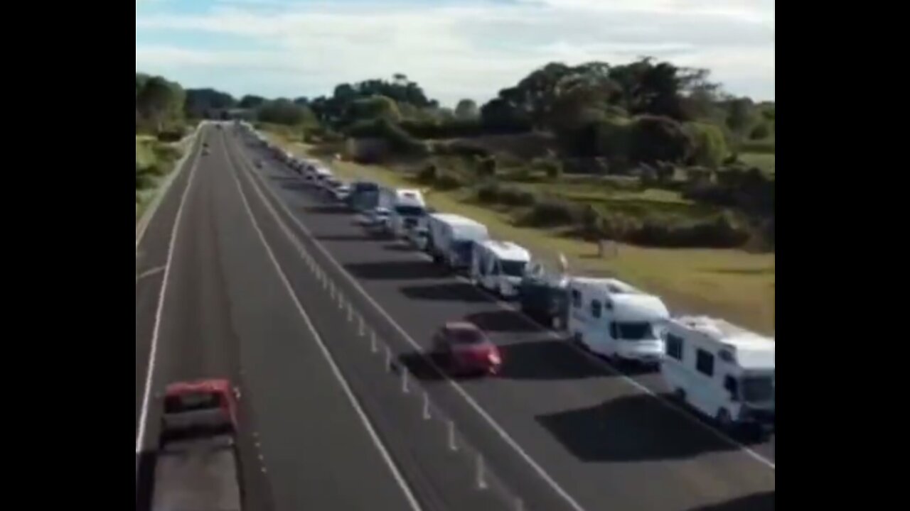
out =
[[[136,71],[315,97],[400,73],[478,103],[548,62],[642,55],[774,99],[774,0],[136,0]]]

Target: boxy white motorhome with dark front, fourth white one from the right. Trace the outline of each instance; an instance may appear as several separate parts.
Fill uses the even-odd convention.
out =
[[[453,269],[470,267],[472,245],[490,239],[487,226],[461,215],[434,213],[427,217],[430,255]]]

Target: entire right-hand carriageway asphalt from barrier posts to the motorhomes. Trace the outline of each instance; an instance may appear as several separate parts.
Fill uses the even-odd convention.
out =
[[[353,215],[244,146],[259,195],[285,235],[347,283],[372,325],[398,341],[435,402],[457,417],[490,466],[541,509],[773,509],[773,439],[743,446],[663,398],[654,373],[621,374],[586,356]],[[503,351],[501,377],[453,384],[417,352],[445,321],[468,319]]]

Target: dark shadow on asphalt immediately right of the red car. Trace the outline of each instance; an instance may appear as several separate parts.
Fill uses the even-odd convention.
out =
[[[499,376],[516,380],[571,380],[610,376],[592,366],[565,341],[541,339],[499,345],[502,367]]]

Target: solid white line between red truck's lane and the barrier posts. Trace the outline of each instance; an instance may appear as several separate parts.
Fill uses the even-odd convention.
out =
[[[230,161],[230,156],[228,156],[227,162],[228,162],[228,165],[234,166],[235,169],[237,169],[237,167]],[[341,389],[344,391],[345,396],[348,397],[350,406],[352,406],[354,408],[354,411],[359,416],[360,422],[363,423],[363,427],[367,430],[367,433],[369,434],[370,439],[373,441],[373,444],[379,450],[379,455],[382,456],[383,461],[385,461],[386,465],[389,466],[389,471],[391,471],[392,476],[395,478],[395,482],[398,483],[399,487],[401,488],[401,491],[404,493],[405,498],[408,500],[408,504],[410,505],[410,508],[413,511],[421,511],[420,504],[417,502],[417,499],[414,497],[413,493],[411,493],[411,491],[410,491],[410,486],[408,486],[408,483],[405,481],[404,477],[401,476],[398,466],[395,465],[395,462],[392,460],[392,457],[389,455],[389,450],[386,449],[386,446],[384,446],[382,444],[382,440],[379,439],[379,435],[377,435],[376,430],[373,428],[373,425],[369,422],[369,417],[363,411],[363,408],[360,406],[357,396],[354,396],[354,392],[350,389],[350,386],[348,385],[348,381],[341,374],[341,370],[339,369],[339,366],[335,363],[335,359],[332,357],[331,353],[329,353],[329,348],[327,348],[325,342],[323,342],[322,336],[319,336],[319,332],[316,331],[316,326],[313,325],[313,322],[310,320],[309,315],[307,314],[307,311],[304,310],[303,306],[300,304],[297,294],[294,292],[293,286],[290,285],[290,282],[288,281],[288,277],[285,276],[284,271],[281,269],[281,265],[278,264],[278,259],[275,257],[275,254],[272,252],[271,247],[268,245],[266,236],[262,233],[262,230],[259,228],[256,218],[253,216],[252,210],[249,208],[249,203],[247,201],[247,195],[243,193],[243,188],[240,186],[240,180],[237,176],[237,173],[232,172],[230,174],[234,178],[234,183],[237,185],[238,192],[240,193],[240,198],[243,199],[243,206],[247,210],[247,215],[249,216],[249,221],[253,224],[253,227],[256,229],[256,232],[259,235],[259,241],[262,242],[262,246],[265,247],[266,252],[268,252],[268,257],[271,260],[272,265],[275,266],[275,271],[278,272],[278,277],[281,279],[281,283],[284,284],[285,289],[288,291],[288,295],[290,295],[291,301],[293,301],[294,306],[297,307],[297,312],[299,313],[300,317],[302,317],[304,323],[307,324],[307,329],[309,330],[309,333],[312,334],[314,339],[316,339],[316,344],[319,345],[319,351],[322,352],[322,356],[325,356],[326,361],[329,363],[329,367],[331,367],[332,374],[338,380],[339,386],[341,386]],[[260,455],[260,459],[261,459],[261,455]]]

